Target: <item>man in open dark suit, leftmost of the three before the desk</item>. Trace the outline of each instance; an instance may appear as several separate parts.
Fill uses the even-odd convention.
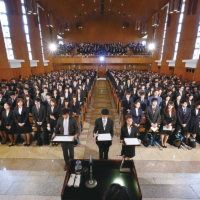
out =
[[[70,110],[67,108],[63,108],[61,111],[61,117],[59,117],[56,127],[54,129],[54,133],[52,135],[52,138],[55,137],[55,135],[73,135],[74,140],[78,137],[78,125],[75,117],[72,117],[69,115]],[[60,129],[60,132],[59,132]],[[66,142],[61,143],[62,150],[63,150],[63,156],[65,159],[65,170],[67,168],[67,164],[69,163],[70,159],[74,159],[74,143],[73,142]],[[68,154],[69,150],[69,154]]]

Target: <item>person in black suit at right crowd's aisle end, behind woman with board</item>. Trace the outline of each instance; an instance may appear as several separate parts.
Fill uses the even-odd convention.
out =
[[[126,97],[122,98],[122,108],[121,110],[123,111],[123,117],[125,119],[125,115],[129,115],[132,105],[133,105],[133,98],[130,97],[131,93],[130,91],[126,92]]]

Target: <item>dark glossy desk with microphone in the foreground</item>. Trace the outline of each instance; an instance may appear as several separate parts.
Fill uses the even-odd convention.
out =
[[[90,176],[89,159],[80,159],[80,161],[83,168],[88,167],[88,173],[86,175],[81,174],[81,182],[78,188],[68,187],[69,176],[71,173],[75,173],[76,160],[69,162],[61,193],[62,200],[102,200],[104,192],[113,183],[125,186],[131,199],[142,199],[135,165],[132,160],[127,160],[123,164],[123,168],[131,169],[130,173],[121,173],[119,171],[121,160],[93,160],[93,178],[97,181],[95,188],[87,188],[85,186],[85,182]]]

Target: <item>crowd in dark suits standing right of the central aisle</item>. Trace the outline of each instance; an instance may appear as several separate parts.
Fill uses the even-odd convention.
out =
[[[196,138],[199,134],[200,87],[194,80],[191,83],[182,83],[176,75],[162,76],[155,72],[138,70],[111,70],[107,75],[115,98],[119,99],[115,102],[120,105],[117,108],[122,112],[123,118],[130,114],[137,133],[141,134],[143,131],[140,126],[145,121],[144,140],[151,127],[159,128],[163,147],[166,147],[168,137],[177,135],[180,129],[187,144],[189,137]],[[143,120],[143,117],[146,119]],[[167,128],[170,131],[166,131]],[[156,134],[152,130],[153,141]]]

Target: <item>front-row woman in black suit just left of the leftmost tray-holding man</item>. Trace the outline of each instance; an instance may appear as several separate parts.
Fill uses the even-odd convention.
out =
[[[57,120],[59,118],[59,108],[57,107],[56,100],[50,100],[50,106],[47,109],[47,127],[50,128],[51,136],[56,127]]]

